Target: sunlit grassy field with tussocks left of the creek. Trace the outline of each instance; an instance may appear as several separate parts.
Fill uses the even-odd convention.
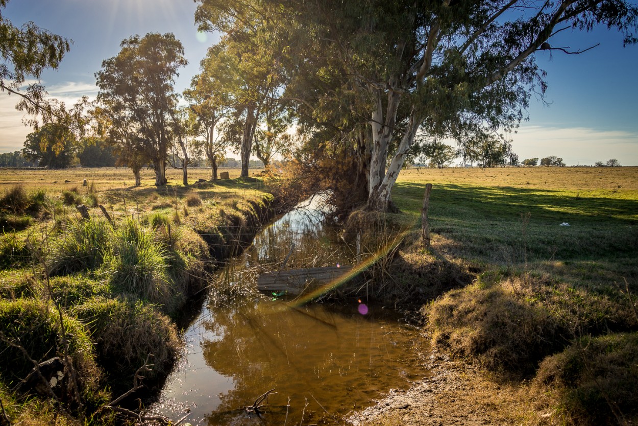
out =
[[[210,172],[194,169],[189,186],[170,171],[156,188],[149,171],[131,186],[122,168],[0,169],[0,400],[11,424],[112,424],[106,407],[140,367],[152,365],[147,385],[161,381],[186,303],[274,208],[261,179],[223,171],[231,179],[197,183]],[[45,360],[66,376],[20,384]]]

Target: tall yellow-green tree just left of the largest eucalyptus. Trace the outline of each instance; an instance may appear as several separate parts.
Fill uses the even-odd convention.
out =
[[[241,125],[237,147],[241,176],[248,176],[253,141],[268,100],[281,93],[281,57],[285,45],[274,8],[242,0],[196,0],[200,31],[219,31],[221,41],[209,49],[207,72],[223,77],[234,118]],[[253,7],[256,6],[256,7]],[[229,129],[232,126],[228,127]]]

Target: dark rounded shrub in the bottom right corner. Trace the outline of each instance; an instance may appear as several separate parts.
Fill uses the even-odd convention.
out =
[[[634,424],[638,333],[584,337],[545,359],[535,382],[554,386],[560,411],[575,425]]]

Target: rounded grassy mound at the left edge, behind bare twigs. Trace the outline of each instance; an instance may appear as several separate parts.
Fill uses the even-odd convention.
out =
[[[82,323],[66,314],[63,314],[63,322],[73,363],[85,383],[91,383],[97,376],[87,331]],[[59,316],[51,303],[32,299],[0,300],[0,324],[3,340],[22,346],[35,361],[45,361],[61,353]],[[0,372],[7,383],[18,383],[33,369],[33,363],[24,352],[3,342]]]

